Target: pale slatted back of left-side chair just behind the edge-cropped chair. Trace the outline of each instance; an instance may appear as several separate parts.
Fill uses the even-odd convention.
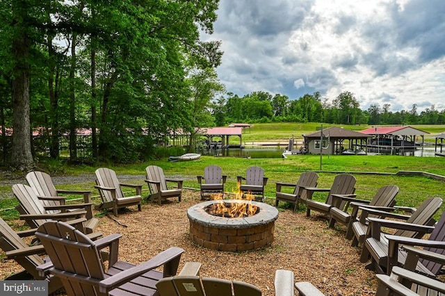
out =
[[[15,184],[13,185],[13,194],[15,197],[17,197],[17,199],[19,199],[20,206],[22,206],[22,210],[26,214],[48,214],[48,212],[44,209],[42,202],[40,202],[40,199],[38,199],[37,195],[35,195],[33,188],[24,184]],[[46,221],[47,220],[45,219],[33,220],[33,224],[35,224],[37,227]],[[33,227],[33,225],[30,226]]]

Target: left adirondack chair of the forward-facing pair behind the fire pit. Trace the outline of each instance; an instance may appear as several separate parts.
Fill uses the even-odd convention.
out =
[[[223,176],[221,167],[209,165],[204,168],[204,176],[197,176],[200,183],[201,199],[209,199],[213,194],[220,193],[224,196],[224,184],[227,176]]]

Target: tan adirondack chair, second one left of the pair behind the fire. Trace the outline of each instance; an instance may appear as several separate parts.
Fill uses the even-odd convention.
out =
[[[142,185],[120,183],[116,172],[106,167],[97,169],[95,174],[95,188],[99,190],[99,195],[102,199],[99,206],[96,206],[97,210],[101,211],[106,208],[113,208],[113,215],[116,217],[118,216],[118,208],[138,206],[138,211],[142,210]],[[134,188],[136,190],[136,195],[125,197],[121,187]]]

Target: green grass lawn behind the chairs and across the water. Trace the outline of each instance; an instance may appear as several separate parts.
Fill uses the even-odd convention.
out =
[[[323,128],[330,127],[330,124],[323,124]],[[252,124],[246,133],[243,133],[243,142],[263,142],[271,141],[286,142],[294,135],[297,139],[302,139],[303,133],[312,133],[319,129],[320,124],[317,123],[273,123],[273,124]],[[345,126],[356,131],[366,129],[368,126]],[[444,126],[413,126],[422,131],[428,131],[429,140],[433,139],[433,135],[442,133]],[[231,142],[236,141],[237,137],[231,137]],[[426,139],[426,140],[428,140]],[[320,164],[321,163],[321,164]],[[184,186],[189,188],[197,188],[197,175],[202,175],[204,167],[207,165],[219,165],[223,168],[223,173],[227,174],[228,181],[225,186],[226,190],[236,188],[236,176],[243,176],[245,170],[252,166],[258,165],[263,167],[268,176],[268,184],[266,186],[266,196],[275,196],[275,182],[284,181],[295,183],[301,172],[318,171],[320,172],[319,187],[330,187],[335,174],[332,172],[353,172],[357,178],[357,196],[364,199],[371,199],[375,192],[381,186],[394,184],[400,188],[400,192],[396,197],[398,204],[403,206],[418,206],[423,199],[428,197],[444,197],[444,181],[429,179],[425,176],[395,176],[399,171],[422,171],[432,174],[445,176],[445,158],[440,157],[414,157],[414,156],[289,156],[288,158],[263,158],[263,159],[247,159],[247,158],[223,158],[213,156],[202,156],[198,161],[189,162],[168,162],[167,158],[146,163],[134,163],[130,165],[111,165],[109,163],[95,166],[88,165],[60,165],[60,163],[51,162],[48,167],[42,167],[40,170],[49,172],[51,175],[90,175],[90,181],[84,184],[63,184],[56,186],[58,189],[72,190],[93,190],[93,194],[97,194],[94,188],[94,171],[97,167],[110,167],[117,172],[118,175],[145,175],[145,167],[147,165],[159,165],[167,176],[177,176],[184,178]],[[387,174],[364,174],[371,173],[387,173]],[[13,176],[16,178],[11,183],[24,182],[24,176]],[[144,183],[141,178],[138,183]],[[145,184],[145,183],[144,183]],[[147,186],[145,185],[145,189]],[[316,195],[315,198],[323,198],[323,195]],[[273,199],[269,199],[272,201]],[[0,186],[0,208],[13,208],[17,201],[13,198],[10,185]],[[437,213],[442,214],[444,207]],[[0,216],[5,220],[15,219],[17,211],[0,211]]]

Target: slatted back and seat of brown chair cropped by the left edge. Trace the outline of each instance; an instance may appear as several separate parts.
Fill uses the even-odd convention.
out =
[[[28,247],[26,242],[20,238],[17,233],[10,226],[0,218],[0,247],[4,252],[13,251],[16,249],[24,249]],[[37,270],[35,268],[43,264],[42,258],[37,255],[29,255],[29,256],[17,256],[15,261],[22,265],[22,267],[28,271],[35,279],[42,279],[38,275]]]

